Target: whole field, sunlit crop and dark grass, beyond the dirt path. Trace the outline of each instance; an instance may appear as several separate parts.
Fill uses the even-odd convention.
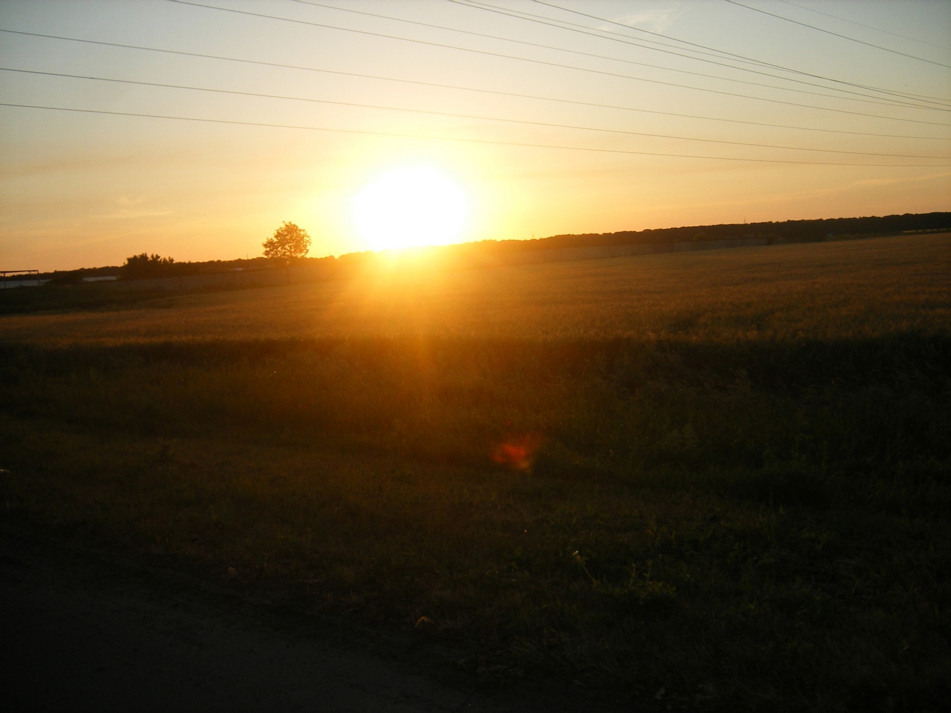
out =
[[[4,508],[499,684],[939,710],[949,256],[942,234],[395,263],[7,315]]]

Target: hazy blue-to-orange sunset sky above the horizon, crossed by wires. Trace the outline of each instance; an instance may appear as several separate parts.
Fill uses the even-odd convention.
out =
[[[951,210],[951,2],[0,0],[0,29],[0,270],[253,258],[285,221],[322,257],[414,220]]]

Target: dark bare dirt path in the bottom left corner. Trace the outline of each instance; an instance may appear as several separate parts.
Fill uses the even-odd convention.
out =
[[[553,711],[584,698],[476,684],[419,642],[374,646],[180,573],[0,527],[8,710]],[[411,637],[413,639],[413,637]],[[368,650],[376,648],[376,651]],[[5,703],[5,707],[8,703]]]

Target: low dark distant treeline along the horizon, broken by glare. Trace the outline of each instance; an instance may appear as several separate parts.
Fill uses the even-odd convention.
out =
[[[690,241],[724,241],[744,238],[776,239],[777,242],[820,241],[829,236],[893,234],[922,230],[951,230],[951,212],[905,213],[893,216],[869,216],[865,218],[829,218],[815,221],[782,221],[724,223],[720,225],[689,225],[677,228],[648,230],[622,230],[616,233],[585,233],[581,235],[555,235],[531,241],[478,241],[438,248],[442,257],[456,264],[467,260],[479,261],[492,258],[504,262],[508,253],[555,248],[594,247],[600,245],[637,245],[647,243],[672,243]],[[377,253],[350,253],[340,258],[304,258],[296,262],[298,267],[314,268],[320,274],[327,271],[344,272],[376,260]],[[251,258],[249,260],[205,260],[203,262],[177,262],[159,255],[131,256],[124,265],[88,267],[79,270],[57,270],[42,273],[37,279],[49,279],[54,284],[81,282],[86,278],[116,277],[120,279],[154,279],[207,275],[229,271],[264,270],[278,266],[274,260]]]

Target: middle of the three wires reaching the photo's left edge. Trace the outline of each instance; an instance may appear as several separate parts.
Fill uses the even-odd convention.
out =
[[[676,139],[678,141],[696,141],[703,142],[705,144],[726,144],[726,145],[735,145],[735,146],[755,146],[757,148],[782,148],[791,151],[818,151],[822,153],[842,153],[849,154],[853,156],[882,156],[893,159],[933,159],[935,161],[951,161],[951,156],[922,156],[921,154],[898,154],[898,153],[878,153],[872,151],[845,151],[835,148],[811,148],[808,146],[786,146],[786,145],[776,145],[776,144],[757,144],[750,142],[742,141],[725,141],[720,139],[703,139],[694,136],[675,136],[671,134],[655,134],[647,131],[628,131],[624,129],[614,129],[614,128],[600,128],[598,126],[578,126],[570,124],[550,124],[548,122],[534,122],[527,121],[523,119],[506,119],[502,117],[495,116],[480,116],[477,114],[458,114],[451,111],[430,111],[427,109],[412,109],[405,108],[402,106],[381,106],[373,104],[358,104],[355,102],[337,102],[330,99],[312,99],[309,97],[294,97],[294,96],[285,96],[281,94],[261,94],[253,91],[238,91],[235,89],[219,89],[214,87],[190,87],[187,85],[172,85],[164,84],[159,82],[142,82],[132,79],[113,79],[110,77],[95,77],[87,76],[83,74],[66,74],[63,72],[47,72],[39,71],[36,69],[18,69],[12,67],[0,67],[0,71],[9,71],[9,72],[20,72],[23,74],[38,74],[48,77],[69,77],[71,79],[87,79],[94,80],[97,82],[113,82],[117,84],[126,84],[126,85],[138,85],[140,87],[165,87],[170,89],[188,89],[191,91],[206,91],[214,92],[217,94],[233,94],[237,96],[245,97],[261,97],[264,99],[282,99],[292,102],[310,102],[314,104],[330,104],[334,106],[355,106],[358,108],[365,109],[383,109],[386,111],[403,111],[413,114],[428,114],[430,116],[447,116],[454,119],[476,119],[477,121],[487,121],[487,122],[504,122],[506,124],[522,124],[522,125],[532,125],[532,126],[547,126],[550,128],[569,128],[576,129],[581,131],[600,131],[604,133],[611,134],[625,134],[627,136],[644,136],[653,139]]]

